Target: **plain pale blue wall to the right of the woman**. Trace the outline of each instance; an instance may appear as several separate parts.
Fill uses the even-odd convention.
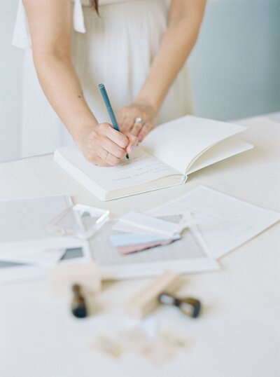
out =
[[[280,0],[216,0],[190,56],[196,114],[280,111]]]

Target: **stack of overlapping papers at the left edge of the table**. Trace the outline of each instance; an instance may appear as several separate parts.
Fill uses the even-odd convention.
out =
[[[90,256],[85,242],[47,231],[70,205],[69,196],[0,201],[0,282],[45,275],[62,260]]]

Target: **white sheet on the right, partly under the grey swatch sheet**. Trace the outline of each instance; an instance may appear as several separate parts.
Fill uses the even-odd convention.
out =
[[[179,210],[192,213],[216,258],[244,244],[280,219],[279,212],[246,203],[205,186],[160,205],[148,211],[148,214],[160,216]]]

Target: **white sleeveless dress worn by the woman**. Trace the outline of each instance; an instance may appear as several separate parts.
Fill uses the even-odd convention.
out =
[[[97,88],[104,83],[116,113],[137,96],[167,29],[166,0],[89,0],[73,4],[73,62],[94,116],[109,121]],[[31,54],[25,8],[20,0],[13,45],[25,48],[21,157],[51,153],[73,140],[46,100]],[[158,114],[157,124],[193,113],[188,69],[183,67]]]

